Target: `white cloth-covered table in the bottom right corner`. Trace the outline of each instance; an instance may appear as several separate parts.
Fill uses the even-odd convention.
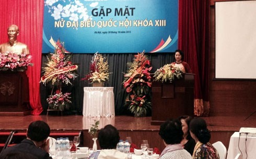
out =
[[[247,159],[256,158],[256,137],[247,137],[246,141],[246,137],[240,136],[239,139],[239,132],[235,132],[230,137],[227,159],[234,159],[238,153],[242,154],[243,159],[245,159],[246,156]]]

